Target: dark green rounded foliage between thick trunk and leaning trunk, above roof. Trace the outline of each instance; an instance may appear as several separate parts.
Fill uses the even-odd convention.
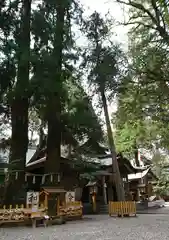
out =
[[[101,123],[92,107],[91,100],[76,81],[67,82],[68,101],[63,112],[65,126],[79,140],[92,138],[103,140]]]

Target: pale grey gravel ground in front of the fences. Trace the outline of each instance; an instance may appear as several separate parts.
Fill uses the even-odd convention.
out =
[[[132,218],[88,216],[65,225],[36,229],[0,228],[0,240],[169,240],[169,215]]]

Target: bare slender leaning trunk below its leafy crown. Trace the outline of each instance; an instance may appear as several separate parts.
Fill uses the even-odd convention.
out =
[[[117,162],[117,158],[116,158],[116,149],[115,149],[115,144],[114,144],[114,139],[113,139],[112,128],[111,128],[111,124],[110,124],[107,100],[106,100],[105,93],[102,90],[101,90],[101,97],[102,97],[104,115],[105,115],[105,120],[106,120],[109,148],[110,148],[111,155],[112,155],[113,180],[114,180],[114,184],[116,187],[118,201],[124,201],[125,200],[124,188],[123,188],[122,179],[121,179],[120,171],[119,171],[119,166],[118,166],[118,162]]]

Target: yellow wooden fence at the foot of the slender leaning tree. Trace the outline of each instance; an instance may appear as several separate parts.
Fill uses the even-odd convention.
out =
[[[109,202],[109,215],[110,216],[136,216],[136,203],[135,202]]]

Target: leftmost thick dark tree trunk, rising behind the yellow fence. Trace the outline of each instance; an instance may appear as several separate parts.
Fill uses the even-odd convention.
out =
[[[29,62],[30,62],[31,0],[23,0],[20,36],[18,39],[18,72],[11,103],[12,136],[10,174],[5,202],[11,203],[24,183],[24,170],[28,148]],[[17,174],[18,172],[18,174]]]

